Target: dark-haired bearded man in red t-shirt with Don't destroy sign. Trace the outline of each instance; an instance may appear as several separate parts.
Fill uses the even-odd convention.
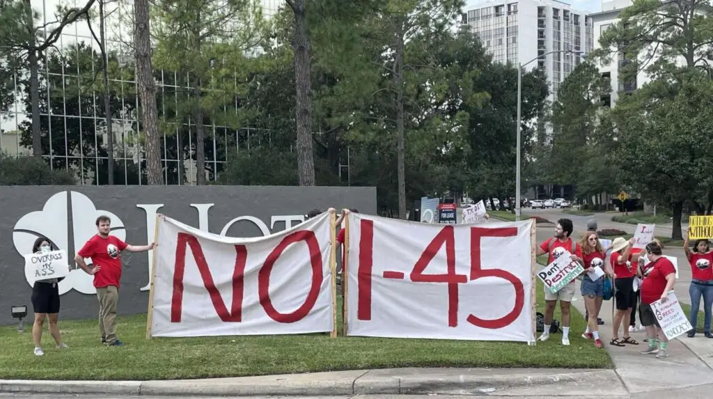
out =
[[[576,243],[570,238],[573,232],[573,225],[570,219],[559,219],[557,221],[557,226],[555,227],[554,237],[543,242],[538,248],[538,256],[543,254],[549,254],[548,264],[551,264],[555,259],[560,257],[560,255],[565,252],[570,252],[572,254],[572,260],[583,263],[582,260],[582,247],[580,244]],[[550,293],[550,291],[545,287],[545,302],[547,306],[545,308],[545,320],[544,320],[544,331],[540,338],[540,341],[547,341],[550,338],[550,326],[552,323],[552,318],[555,314],[555,306],[557,306],[557,301],[560,301],[560,311],[562,312],[562,344],[570,344],[570,302],[575,294],[575,281],[571,281],[566,286],[563,286],[560,291],[555,294]]]

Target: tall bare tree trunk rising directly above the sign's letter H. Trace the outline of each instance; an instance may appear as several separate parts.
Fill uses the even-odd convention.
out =
[[[156,86],[153,81],[151,66],[151,38],[148,24],[148,0],[134,1],[136,57],[136,80],[141,116],[145,134],[146,164],[149,185],[163,185],[163,167],[161,167],[161,141],[158,137],[158,111],[156,110]]]

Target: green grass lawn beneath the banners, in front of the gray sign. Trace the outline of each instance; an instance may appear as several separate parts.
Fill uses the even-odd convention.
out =
[[[538,311],[544,294],[538,284]],[[341,307],[341,306],[340,306]],[[559,311],[555,318],[562,320]],[[465,318],[461,322],[465,322]],[[339,321],[341,325],[341,321]],[[118,335],[127,345],[99,342],[96,320],[60,321],[70,348],[54,349],[42,337],[45,356],[34,356],[31,335],[16,326],[0,328],[0,378],[53,380],[158,380],[242,375],[307,373],[396,367],[611,368],[606,351],[580,337],[583,317],[572,309],[571,346],[560,334],[550,341],[526,343],[396,338],[301,336],[228,336],[145,339],[145,316],[118,318]]]

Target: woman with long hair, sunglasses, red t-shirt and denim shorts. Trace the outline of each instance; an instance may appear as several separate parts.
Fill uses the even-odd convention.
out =
[[[613,272],[605,262],[607,255],[599,242],[597,232],[586,232],[582,237],[580,246],[582,247],[585,269],[580,291],[588,314],[587,330],[584,332],[583,337],[594,339],[594,346],[602,348],[597,318],[599,317],[599,311],[602,309],[602,300],[604,299],[604,275],[610,276]]]

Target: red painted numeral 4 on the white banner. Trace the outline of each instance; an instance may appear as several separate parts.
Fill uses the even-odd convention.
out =
[[[436,257],[438,250],[446,245],[446,274],[424,274],[426,266]],[[414,269],[411,271],[411,281],[415,283],[447,283],[448,284],[448,326],[458,326],[458,284],[466,283],[468,276],[456,274],[456,236],[453,226],[441,229],[429,243]]]

